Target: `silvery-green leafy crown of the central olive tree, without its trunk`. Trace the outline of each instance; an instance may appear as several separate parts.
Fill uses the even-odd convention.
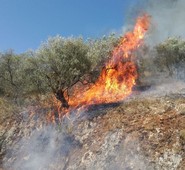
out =
[[[65,90],[91,74],[110,55],[116,40],[113,35],[88,42],[82,38],[49,38],[38,49],[35,65],[52,91]]]

